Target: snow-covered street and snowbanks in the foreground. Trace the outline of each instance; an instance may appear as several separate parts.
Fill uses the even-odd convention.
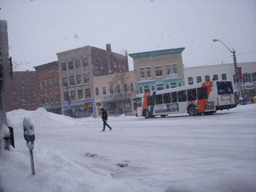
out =
[[[256,191],[256,104],[209,116],[71,119],[16,110],[7,113],[15,149],[0,152],[0,191],[142,192]],[[35,124],[34,162],[23,118]]]

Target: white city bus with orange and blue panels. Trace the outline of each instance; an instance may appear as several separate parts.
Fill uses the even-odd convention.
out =
[[[209,81],[166,90],[138,94],[137,117],[146,119],[168,114],[212,114],[236,107],[231,81]]]

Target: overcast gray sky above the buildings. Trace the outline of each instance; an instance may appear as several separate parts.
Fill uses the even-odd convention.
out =
[[[90,45],[119,54],[185,47],[185,67],[256,61],[255,0],[0,0],[15,71]],[[132,59],[129,58],[130,69]]]

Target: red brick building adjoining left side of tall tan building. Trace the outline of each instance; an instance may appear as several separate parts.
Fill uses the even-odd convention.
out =
[[[61,95],[58,61],[34,67],[37,74],[37,98],[40,107],[53,113],[61,113]]]

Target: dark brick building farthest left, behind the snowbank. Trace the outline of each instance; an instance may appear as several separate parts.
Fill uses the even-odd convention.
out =
[[[15,109],[36,110],[39,105],[36,91],[36,72],[14,72],[5,87],[6,111]]]

